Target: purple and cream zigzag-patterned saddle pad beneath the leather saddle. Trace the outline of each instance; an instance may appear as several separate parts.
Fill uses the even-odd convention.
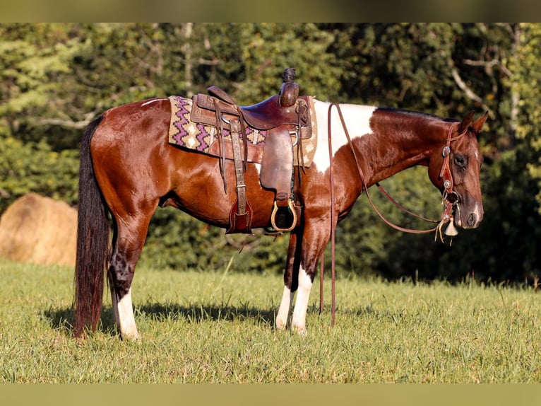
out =
[[[210,124],[210,120],[208,120],[207,124],[205,117],[201,118],[201,108],[197,105],[197,97],[198,95],[194,95],[193,99],[175,95],[169,97],[171,103],[169,143],[199,153],[220,157],[218,129],[216,129],[215,125]],[[302,127],[301,143],[295,145],[297,136],[294,133],[291,134],[291,139],[292,144],[295,145],[293,147],[294,165],[299,166],[300,162],[304,167],[308,168],[311,166],[316,153],[317,124],[314,99],[307,97],[306,100],[310,112],[309,125]],[[193,120],[194,115],[196,116],[195,120]],[[240,134],[240,137],[244,136],[248,144],[248,162],[261,163],[268,132],[268,129],[256,129],[249,124],[245,126],[244,134]],[[225,142],[225,158],[232,160],[232,143],[230,142],[230,130],[227,127],[223,128],[222,136],[227,140]],[[302,144],[301,149],[299,149],[299,144]],[[302,157],[300,157],[301,153]],[[242,151],[242,155],[244,159],[244,151]]]

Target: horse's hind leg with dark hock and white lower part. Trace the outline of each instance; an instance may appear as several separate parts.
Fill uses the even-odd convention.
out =
[[[140,340],[131,302],[131,282],[136,263],[143,250],[150,216],[132,216],[129,220],[117,219],[113,250],[107,278],[113,306],[114,322],[121,337]]]

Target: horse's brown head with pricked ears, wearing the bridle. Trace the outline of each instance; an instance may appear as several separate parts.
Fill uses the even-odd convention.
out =
[[[470,112],[462,122],[446,129],[446,141],[434,148],[429,161],[429,176],[453,207],[454,224],[476,228],[483,218],[480,168],[483,158],[477,144],[487,113],[473,120]]]

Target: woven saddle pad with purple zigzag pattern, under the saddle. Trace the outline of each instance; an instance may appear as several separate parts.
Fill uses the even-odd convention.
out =
[[[218,132],[215,127],[206,124],[192,122],[190,120],[192,100],[181,96],[170,96],[171,103],[171,121],[169,128],[169,143],[181,146],[185,149],[191,149],[201,153],[210,153],[210,146],[218,142]],[[310,100],[311,101],[311,100]],[[314,105],[310,103],[312,120],[312,137],[302,140],[302,152],[304,153],[304,166],[309,167],[316,153],[316,120],[314,114]],[[247,127],[244,136],[246,140],[254,147],[263,149],[267,132],[265,130],[252,129]],[[226,142],[230,141],[230,132],[223,129],[222,136]],[[292,136],[295,142],[295,136]],[[295,165],[297,163],[297,147],[295,147]]]

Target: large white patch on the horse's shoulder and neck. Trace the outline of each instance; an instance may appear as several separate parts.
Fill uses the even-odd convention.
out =
[[[314,100],[314,108],[316,110],[317,119],[317,149],[314,156],[314,163],[321,173],[324,173],[329,168],[328,158],[328,108],[331,103]],[[344,116],[344,121],[347,125],[347,132],[351,139],[362,137],[365,134],[372,132],[370,128],[370,117],[376,110],[374,106],[368,105],[352,105],[340,104],[340,110]],[[337,108],[333,107],[331,114],[331,142],[333,144],[333,156],[341,146],[347,144],[344,128],[340,121]]]

